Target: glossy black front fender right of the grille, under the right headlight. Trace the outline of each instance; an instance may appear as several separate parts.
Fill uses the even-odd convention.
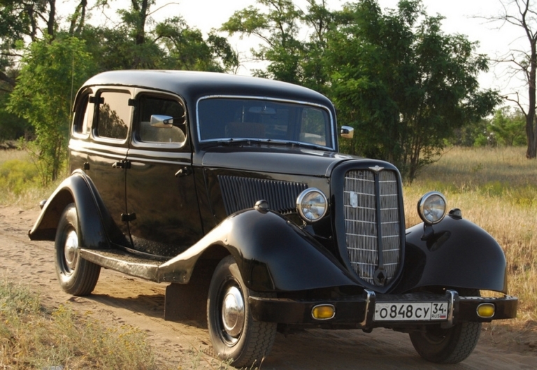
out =
[[[455,215],[432,227],[410,227],[403,274],[394,292],[428,286],[507,293],[506,257],[485,230]]]

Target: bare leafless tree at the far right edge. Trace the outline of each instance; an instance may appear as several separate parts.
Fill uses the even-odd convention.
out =
[[[523,103],[520,95],[508,95],[506,99],[513,101],[522,111],[526,120],[527,150],[526,157],[537,157],[537,120],[536,120],[536,76],[537,76],[537,9],[530,0],[500,0],[502,13],[489,20],[503,22],[520,27],[527,38],[529,50],[510,50],[499,62],[508,62],[517,73],[522,73],[527,83],[527,103]]]

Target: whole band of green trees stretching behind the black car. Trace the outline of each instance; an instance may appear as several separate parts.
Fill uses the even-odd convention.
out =
[[[520,114],[494,113],[499,96],[481,90],[488,58],[421,0],[382,10],[356,0],[329,10],[326,0],[252,0],[204,36],[178,15],[156,20],[155,0],[75,0],[60,18],[56,0],[0,0],[0,140],[34,140],[41,182],[66,158],[73,91],[113,69],[187,69],[235,73],[241,57],[229,37],[255,35],[255,76],[326,94],[340,124],[355,127],[341,151],[393,162],[410,182],[446,145],[523,145]],[[118,26],[91,24],[100,12]],[[20,16],[22,15],[22,17]],[[494,117],[494,118],[493,118]]]

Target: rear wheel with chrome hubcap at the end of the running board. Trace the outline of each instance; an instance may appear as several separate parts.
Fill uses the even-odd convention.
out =
[[[79,246],[78,214],[71,203],[62,213],[56,230],[56,273],[64,292],[84,296],[94,290],[101,266],[80,257]]]

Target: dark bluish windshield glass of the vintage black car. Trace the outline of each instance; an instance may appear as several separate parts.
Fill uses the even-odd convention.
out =
[[[256,139],[334,148],[327,108],[288,101],[209,97],[198,102],[201,142]]]

